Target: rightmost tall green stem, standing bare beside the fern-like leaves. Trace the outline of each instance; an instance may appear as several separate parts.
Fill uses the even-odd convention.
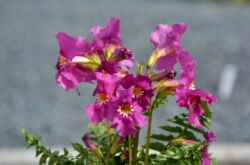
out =
[[[153,104],[150,105],[149,115],[148,115],[148,128],[147,128],[147,140],[146,140],[146,155],[144,165],[148,165],[148,157],[149,157],[149,145],[150,145],[150,135],[151,135],[151,125],[152,125],[152,114],[153,114]]]

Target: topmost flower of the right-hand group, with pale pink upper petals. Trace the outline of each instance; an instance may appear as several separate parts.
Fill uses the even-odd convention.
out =
[[[150,40],[154,44],[153,53],[156,59],[156,69],[173,70],[177,62],[177,53],[182,47],[180,39],[186,31],[186,25],[177,23],[172,26],[159,24],[156,30],[151,33]]]

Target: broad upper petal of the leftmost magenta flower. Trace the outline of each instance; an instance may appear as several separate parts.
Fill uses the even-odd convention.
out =
[[[71,37],[64,32],[56,35],[60,46],[60,54],[72,60],[76,55],[83,55],[89,50],[89,43],[84,37]]]

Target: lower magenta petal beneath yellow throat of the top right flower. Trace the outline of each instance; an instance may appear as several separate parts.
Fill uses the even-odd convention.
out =
[[[174,65],[176,64],[176,62],[177,60],[175,54],[163,56],[157,60],[156,69],[157,70],[167,69],[168,71],[172,71],[174,69]]]

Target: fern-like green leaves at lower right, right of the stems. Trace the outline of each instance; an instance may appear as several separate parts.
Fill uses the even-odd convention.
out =
[[[203,117],[200,118],[200,122],[204,126],[203,129],[190,125],[185,113],[168,119],[167,125],[159,126],[164,133],[151,135],[155,141],[151,142],[150,148],[159,152],[158,155],[151,154],[151,164],[201,164],[201,148],[205,144],[201,135],[205,134],[206,129],[209,128],[212,118],[208,104],[203,102],[202,107],[205,110]],[[142,153],[140,155],[143,156]]]

